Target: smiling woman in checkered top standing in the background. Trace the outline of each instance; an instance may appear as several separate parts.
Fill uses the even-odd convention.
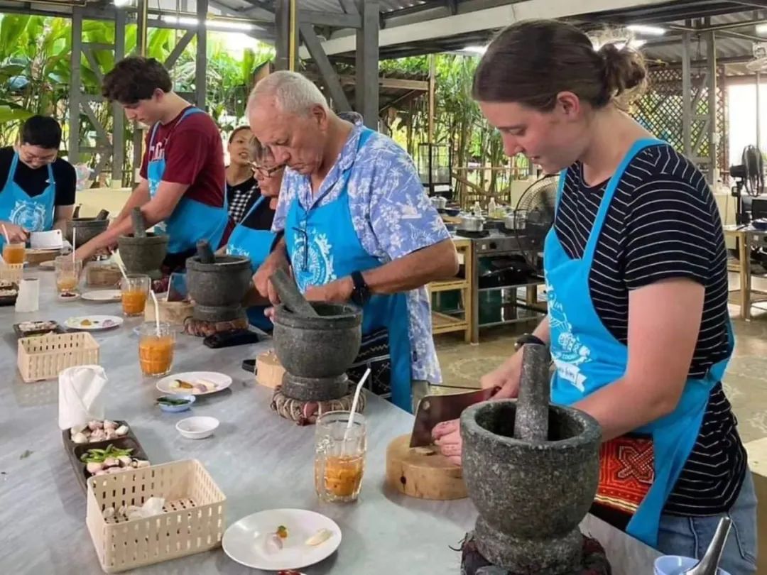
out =
[[[258,182],[251,166],[250,126],[239,126],[229,135],[229,166],[226,166],[226,202],[229,217],[239,224],[258,199]]]

